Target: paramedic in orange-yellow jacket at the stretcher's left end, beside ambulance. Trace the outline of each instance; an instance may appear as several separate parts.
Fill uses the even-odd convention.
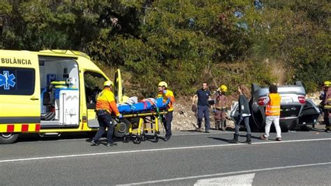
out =
[[[98,140],[101,138],[103,134],[105,134],[105,129],[107,128],[107,147],[112,145],[117,145],[112,140],[112,134],[114,132],[115,124],[112,123],[111,114],[115,113],[115,115],[119,118],[123,116],[119,113],[119,110],[116,106],[115,95],[112,93],[112,87],[114,83],[112,81],[107,80],[103,84],[103,91],[98,94],[96,99],[96,115],[98,116],[98,122],[100,128],[96,133],[96,136],[92,138],[92,145],[97,146]]]

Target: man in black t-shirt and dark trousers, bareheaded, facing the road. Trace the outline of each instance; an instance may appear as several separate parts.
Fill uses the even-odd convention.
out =
[[[198,127],[199,131],[201,129],[201,122],[203,121],[203,117],[205,117],[205,132],[209,133],[210,122],[209,122],[209,106],[208,100],[211,99],[212,94],[208,90],[207,83],[203,83],[203,87],[200,90],[196,91],[196,94],[193,96],[193,106],[195,106],[195,101],[198,100]]]

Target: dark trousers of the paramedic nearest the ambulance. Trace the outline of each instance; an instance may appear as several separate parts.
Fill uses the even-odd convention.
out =
[[[98,122],[100,128],[98,132],[96,132],[96,136],[92,138],[93,141],[98,141],[103,134],[105,134],[105,129],[107,128],[107,141],[108,143],[112,143],[112,134],[114,133],[114,126],[112,125],[112,117],[109,113],[105,115],[98,115]]]

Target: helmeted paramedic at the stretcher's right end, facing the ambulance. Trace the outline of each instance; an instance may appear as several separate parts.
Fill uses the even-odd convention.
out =
[[[171,137],[171,122],[172,122],[172,111],[174,110],[173,103],[175,101],[175,96],[171,90],[168,90],[168,84],[164,81],[161,81],[158,85],[158,98],[163,97],[163,103],[170,99],[168,105],[168,113],[163,115],[162,122],[165,127],[165,138],[164,141],[168,141]]]

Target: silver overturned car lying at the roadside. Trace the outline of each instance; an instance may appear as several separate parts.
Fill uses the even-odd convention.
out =
[[[281,116],[279,124],[281,131],[289,129],[308,130],[309,124],[316,124],[321,110],[311,99],[305,99],[306,91],[300,81],[295,85],[278,86],[278,93],[281,96]],[[251,85],[251,107],[250,126],[257,131],[263,131],[265,127],[265,99],[269,94],[269,87],[260,87],[257,84]],[[237,120],[237,103],[233,105],[230,111],[230,117]]]

